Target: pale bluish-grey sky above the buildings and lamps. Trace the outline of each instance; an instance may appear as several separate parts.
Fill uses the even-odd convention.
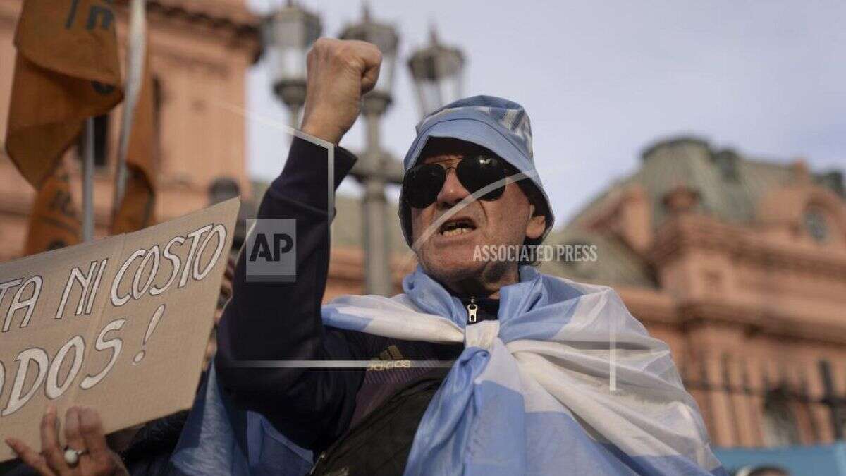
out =
[[[258,14],[283,0],[248,0]],[[324,36],[360,19],[361,3],[300,0]],[[466,58],[464,96],[489,94],[529,113],[537,168],[557,225],[655,141],[695,135],[713,147],[814,172],[846,170],[846,2],[709,0],[494,2],[372,0],[371,17],[400,36],[394,102],[382,142],[402,159],[420,119],[406,60],[428,42]],[[248,109],[287,124],[265,62],[248,78]],[[341,146],[359,151],[362,121]],[[250,174],[272,180],[288,136],[251,120]],[[352,179],[339,193],[359,194]],[[392,187],[389,196],[398,196]]]

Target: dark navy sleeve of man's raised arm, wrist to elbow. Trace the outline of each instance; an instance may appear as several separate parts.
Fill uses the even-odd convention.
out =
[[[349,152],[336,149],[336,186],[354,160]],[[343,335],[326,333],[321,324],[329,260],[327,177],[326,149],[295,140],[283,173],[261,202],[258,219],[295,220],[296,280],[247,282],[242,251],[233,296],[217,334],[217,373],[224,390],[239,406],[264,414],[300,446],[335,431],[321,428],[321,418],[343,420],[351,413],[350,389],[358,385],[359,376],[303,368],[239,368],[237,361],[353,357]]]

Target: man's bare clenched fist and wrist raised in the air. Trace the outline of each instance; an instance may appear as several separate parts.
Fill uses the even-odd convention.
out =
[[[338,144],[376,86],[382,53],[368,42],[320,38],[307,58],[303,132]]]

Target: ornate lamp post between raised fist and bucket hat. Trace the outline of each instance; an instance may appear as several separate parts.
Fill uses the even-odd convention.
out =
[[[365,117],[365,152],[354,176],[364,185],[362,200],[365,238],[365,292],[393,294],[390,267],[390,243],[387,234],[385,184],[402,182],[402,165],[382,151],[379,140],[379,121],[391,104],[393,72],[397,62],[399,38],[390,25],[371,19],[365,6],[361,23],[347,25],[341,38],[371,42],[382,52],[382,69],[373,91],[362,97],[361,113]]]

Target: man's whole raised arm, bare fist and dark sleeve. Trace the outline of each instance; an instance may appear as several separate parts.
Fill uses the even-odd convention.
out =
[[[376,85],[382,54],[371,43],[321,38],[306,58],[302,129],[338,144]],[[335,186],[354,158],[335,149]],[[236,404],[261,412],[299,446],[326,446],[349,425],[360,369],[237,368],[239,360],[357,360],[354,335],[323,329],[321,301],[329,268],[327,153],[295,139],[285,169],[259,208],[259,219],[296,220],[294,283],[247,283],[242,252],[233,297],[218,329],[217,372]],[[363,358],[363,357],[362,357]]]

